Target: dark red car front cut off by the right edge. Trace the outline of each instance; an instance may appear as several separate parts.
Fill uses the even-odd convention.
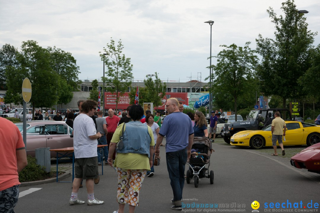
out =
[[[291,158],[291,165],[320,174],[320,143],[316,143]]]

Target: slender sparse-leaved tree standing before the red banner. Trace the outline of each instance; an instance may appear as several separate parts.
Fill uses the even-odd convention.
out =
[[[118,44],[111,38],[110,43],[107,43],[107,48],[103,48],[103,51],[107,54],[105,57],[105,64],[108,70],[105,72],[107,77],[102,78],[107,83],[107,90],[112,94],[116,94],[116,111],[118,110],[119,97],[128,91],[131,85],[133,75],[131,64],[131,58],[126,58],[122,54],[123,44],[121,39]],[[103,54],[100,54],[101,60],[103,61]]]

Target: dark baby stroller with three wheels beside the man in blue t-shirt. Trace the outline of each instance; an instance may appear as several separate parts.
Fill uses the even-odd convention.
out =
[[[187,160],[189,170],[187,171],[187,183],[193,178],[195,187],[199,186],[200,178],[210,178],[210,184],[213,184],[213,171],[210,171],[210,155],[214,152],[211,141],[207,137],[194,137],[191,149],[191,157]],[[205,165],[208,165],[206,168]]]

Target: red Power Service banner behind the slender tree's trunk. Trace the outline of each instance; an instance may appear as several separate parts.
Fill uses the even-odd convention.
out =
[[[104,96],[105,109],[116,109],[116,93],[105,92]],[[118,109],[126,109],[130,105],[129,93],[126,92],[119,97]]]

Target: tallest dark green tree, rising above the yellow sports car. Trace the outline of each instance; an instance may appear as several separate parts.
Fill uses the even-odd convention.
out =
[[[297,98],[302,87],[297,79],[309,68],[309,50],[316,33],[308,31],[303,14],[299,14],[294,1],[282,3],[284,16],[276,16],[274,10],[267,10],[275,24],[275,40],[262,38],[259,34],[257,52],[262,56],[257,67],[260,89],[266,96],[279,95],[285,108],[287,98]]]

